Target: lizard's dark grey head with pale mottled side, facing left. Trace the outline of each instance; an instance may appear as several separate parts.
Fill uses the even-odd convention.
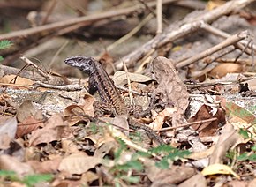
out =
[[[79,68],[80,71],[85,71],[89,74],[93,73],[95,68],[95,59],[90,56],[72,56],[64,60],[65,64]]]

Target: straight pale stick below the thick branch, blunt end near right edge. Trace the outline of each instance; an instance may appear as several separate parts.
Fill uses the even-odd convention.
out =
[[[237,43],[238,41],[244,40],[248,36],[248,34],[249,34],[249,32],[247,30],[242,31],[238,34],[234,34],[234,35],[230,36],[230,38],[219,43],[218,45],[215,45],[214,47],[207,49],[196,56],[192,56],[191,58],[184,60],[181,63],[176,64],[176,67],[181,68],[186,65],[192,64],[206,56],[212,55],[213,53],[215,53],[218,50],[221,50],[227,46],[233,45],[233,44]]]

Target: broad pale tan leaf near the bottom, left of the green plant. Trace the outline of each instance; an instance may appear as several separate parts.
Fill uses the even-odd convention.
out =
[[[100,164],[101,161],[101,158],[87,156],[86,153],[73,153],[61,161],[58,169],[70,174],[82,174]]]

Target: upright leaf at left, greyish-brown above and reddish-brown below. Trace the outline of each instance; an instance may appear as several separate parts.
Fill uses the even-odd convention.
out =
[[[22,137],[40,126],[43,126],[43,116],[40,109],[34,107],[32,101],[24,101],[17,110],[19,121],[17,137]]]

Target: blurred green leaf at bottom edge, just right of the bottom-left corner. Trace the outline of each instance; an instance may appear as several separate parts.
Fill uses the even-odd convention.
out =
[[[31,175],[25,176],[22,180],[22,183],[25,183],[27,186],[34,186],[36,183],[49,182],[52,179],[53,176],[50,174]]]

